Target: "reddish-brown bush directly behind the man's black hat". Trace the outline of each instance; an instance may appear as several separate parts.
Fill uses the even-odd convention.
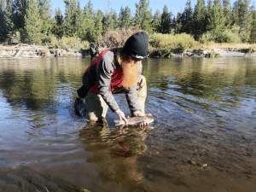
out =
[[[131,26],[128,29],[125,27],[122,29],[116,29],[106,32],[103,36],[98,38],[96,42],[98,47],[103,47],[106,49],[113,47],[123,47],[127,38],[136,32],[140,32],[137,26]]]

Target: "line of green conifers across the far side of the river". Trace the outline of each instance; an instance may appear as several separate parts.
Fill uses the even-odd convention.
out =
[[[0,41],[42,44],[50,38],[77,37],[96,42],[110,30],[137,26],[162,34],[187,33],[195,40],[218,43],[255,43],[256,10],[250,0],[188,0],[183,11],[173,15],[164,5],[152,15],[149,0],[135,3],[135,13],[127,6],[119,14],[108,8],[93,9],[89,2],[82,9],[78,0],[64,0],[65,14],[52,10],[50,0],[0,0]]]

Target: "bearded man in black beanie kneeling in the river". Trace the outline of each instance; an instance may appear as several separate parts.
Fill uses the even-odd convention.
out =
[[[118,114],[119,120],[128,123],[113,94],[125,93],[131,116],[145,114],[147,96],[146,79],[141,75],[142,60],[148,55],[148,34],[137,32],[127,39],[123,48],[103,50],[90,64],[83,76],[83,86],[79,88],[75,108],[85,98],[87,120],[106,117],[108,107]],[[148,125],[143,122],[140,125]]]

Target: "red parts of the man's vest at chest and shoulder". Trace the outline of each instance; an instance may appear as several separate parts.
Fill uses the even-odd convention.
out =
[[[117,49],[117,48],[114,48]],[[100,62],[102,61],[102,56],[108,53],[108,51],[113,50],[113,49],[106,49],[103,50],[100,55],[96,57],[94,61],[91,62],[90,66],[86,69],[86,72],[90,70],[90,67],[93,65],[96,65],[96,71],[99,68]],[[96,74],[94,74],[96,75]],[[117,89],[118,87],[122,86],[122,81],[123,81],[123,69],[122,67],[117,67],[115,70],[113,70],[112,77],[111,77],[111,82],[110,82],[110,91],[113,91]],[[95,82],[95,85],[90,88],[90,92],[99,94],[99,90],[97,89],[97,81]]]

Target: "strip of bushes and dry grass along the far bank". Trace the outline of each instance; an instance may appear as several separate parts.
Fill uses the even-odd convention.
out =
[[[130,32],[131,31],[131,32]],[[99,42],[96,42],[100,46],[100,49],[109,49],[113,47],[122,47],[125,44],[127,38],[131,34],[138,31],[138,29],[130,29],[130,31],[123,32],[122,30],[108,32],[105,37],[99,38]],[[117,35],[119,34],[119,35]],[[64,37],[57,39],[54,36],[49,37],[49,44],[38,45],[41,49],[90,49],[90,43],[87,41],[81,41],[77,37]],[[104,46],[103,46],[104,45]],[[102,47],[103,46],[103,47]],[[106,47],[107,46],[107,47]],[[109,47],[108,47],[109,46]],[[171,54],[173,49],[184,50],[184,49],[248,49],[250,52],[256,51],[256,44],[216,44],[212,41],[200,44],[199,41],[189,34],[160,34],[154,33],[149,35],[149,52],[157,52],[162,54]],[[0,49],[5,50],[16,50],[20,49],[19,46],[3,46],[0,44]]]

